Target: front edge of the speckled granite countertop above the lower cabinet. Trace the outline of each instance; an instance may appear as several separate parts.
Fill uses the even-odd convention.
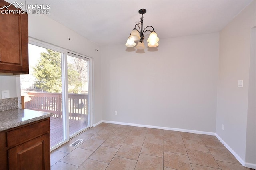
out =
[[[21,122],[17,122],[17,123],[12,123],[10,125],[6,125],[6,126],[3,126],[3,127],[0,127],[0,132],[2,132],[4,130],[11,129],[11,128],[15,128],[15,127],[18,127],[18,126],[26,125],[28,123],[32,123],[32,122],[35,122],[35,121],[39,121],[39,120],[51,117],[53,115],[54,115],[53,113],[48,113],[47,115],[42,115],[42,116],[38,116],[38,117],[35,117],[35,118],[32,118],[32,119],[28,119],[28,120],[25,120],[25,121],[21,121]]]

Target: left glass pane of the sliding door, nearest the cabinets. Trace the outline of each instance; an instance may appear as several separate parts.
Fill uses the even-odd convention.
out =
[[[50,117],[50,146],[66,140],[62,114],[62,55],[58,51],[29,44],[29,74],[20,75],[25,109],[54,113]]]

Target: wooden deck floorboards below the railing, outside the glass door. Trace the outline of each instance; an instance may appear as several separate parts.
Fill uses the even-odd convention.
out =
[[[87,119],[69,119],[69,134],[74,134],[78,130],[88,125]],[[50,117],[50,147],[63,141],[63,118]]]

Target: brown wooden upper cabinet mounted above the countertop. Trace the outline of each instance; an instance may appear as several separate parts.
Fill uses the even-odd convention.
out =
[[[0,0],[0,72],[28,74],[28,14],[8,5]]]

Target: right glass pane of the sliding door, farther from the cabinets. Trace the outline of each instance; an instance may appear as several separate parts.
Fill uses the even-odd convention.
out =
[[[68,53],[69,134],[88,127],[88,60]]]

